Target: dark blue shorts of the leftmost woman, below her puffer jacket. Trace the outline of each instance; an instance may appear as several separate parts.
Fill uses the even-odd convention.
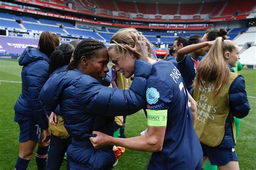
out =
[[[21,114],[15,113],[15,122],[19,124],[19,142],[23,143],[28,140],[35,142],[40,141],[41,129],[33,119]]]

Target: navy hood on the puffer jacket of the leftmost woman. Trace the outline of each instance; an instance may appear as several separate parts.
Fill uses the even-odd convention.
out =
[[[19,57],[19,65],[24,66],[30,62],[34,62],[37,60],[45,60],[48,63],[50,62],[48,56],[39,51],[39,49],[33,47],[26,47],[22,55]]]

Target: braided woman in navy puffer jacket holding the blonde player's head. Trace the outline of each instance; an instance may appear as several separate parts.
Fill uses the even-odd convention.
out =
[[[141,49],[141,48],[139,48]],[[143,48],[144,49],[144,48]],[[147,60],[147,49],[139,58]],[[104,87],[109,55],[102,42],[81,41],[68,70],[53,75],[40,93],[41,101],[52,110],[60,104],[66,130],[72,137],[68,148],[71,169],[110,169],[116,161],[112,146],[96,150],[90,143],[92,131],[113,135],[114,116],[133,114],[145,104],[146,78],[151,65],[136,60],[130,90]]]

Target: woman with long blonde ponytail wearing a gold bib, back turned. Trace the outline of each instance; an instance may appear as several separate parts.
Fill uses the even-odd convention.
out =
[[[197,101],[197,119],[194,128],[208,157],[219,169],[239,169],[235,153],[234,118],[248,115],[244,78],[232,73],[227,64],[235,66],[239,48],[231,40],[219,37],[200,62],[193,97]],[[210,45],[211,45],[210,44]],[[207,42],[199,46],[207,46]]]

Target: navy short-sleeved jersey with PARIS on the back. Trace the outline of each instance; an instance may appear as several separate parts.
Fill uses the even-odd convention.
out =
[[[167,110],[163,150],[151,155],[148,169],[195,169],[203,152],[193,128],[190,102],[179,70],[169,61],[152,65],[147,109]]]

